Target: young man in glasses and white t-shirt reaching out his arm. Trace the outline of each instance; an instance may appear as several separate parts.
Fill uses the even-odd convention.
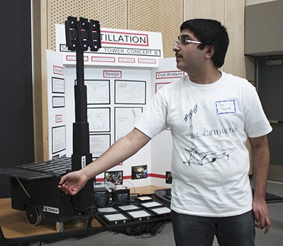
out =
[[[218,21],[194,19],[173,45],[187,73],[152,98],[134,130],[100,158],[59,182],[76,194],[86,181],[137,153],[168,127],[173,138],[171,218],[176,245],[254,245],[255,226],[270,229],[265,203],[272,131],[255,88],[220,71],[229,45]],[[252,148],[255,196],[248,178]],[[256,224],[255,224],[255,222]]]

